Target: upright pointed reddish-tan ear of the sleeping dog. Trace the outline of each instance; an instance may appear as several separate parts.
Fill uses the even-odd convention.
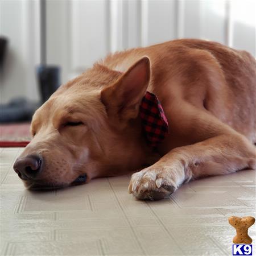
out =
[[[136,118],[139,105],[150,81],[150,60],[143,57],[131,66],[117,82],[101,91],[101,101],[110,118],[125,122]]]

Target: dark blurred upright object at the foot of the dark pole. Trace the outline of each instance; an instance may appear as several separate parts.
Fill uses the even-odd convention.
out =
[[[57,66],[40,65],[37,73],[42,103],[44,103],[60,86],[60,68]]]

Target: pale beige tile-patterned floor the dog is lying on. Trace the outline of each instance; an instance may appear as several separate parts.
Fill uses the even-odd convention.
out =
[[[1,255],[232,255],[228,217],[255,217],[255,171],[183,185],[137,201],[128,176],[51,192],[27,191],[1,150]],[[255,225],[250,228],[254,239]]]

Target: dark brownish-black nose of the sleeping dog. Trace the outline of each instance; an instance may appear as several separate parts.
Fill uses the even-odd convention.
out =
[[[14,171],[21,179],[35,179],[42,170],[43,159],[37,155],[28,155],[18,158],[14,163]]]

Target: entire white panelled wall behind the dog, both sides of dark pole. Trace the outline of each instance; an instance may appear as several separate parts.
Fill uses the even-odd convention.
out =
[[[1,1],[1,34],[11,39],[2,101],[38,98],[38,1]],[[109,52],[176,38],[215,40],[255,56],[255,1],[47,1],[47,63],[61,80]]]

